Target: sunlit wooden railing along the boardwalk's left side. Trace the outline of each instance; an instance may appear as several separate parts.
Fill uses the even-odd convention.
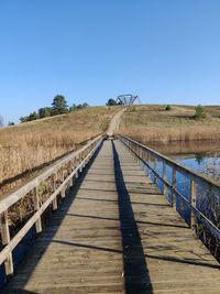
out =
[[[65,157],[58,160],[48,166],[38,176],[28,182],[13,193],[0,198],[0,224],[1,224],[1,243],[0,264],[4,263],[6,274],[12,275],[14,271],[12,251],[25,237],[29,230],[35,226],[36,233],[42,231],[42,214],[52,206],[57,209],[57,199],[66,196],[66,190],[73,186],[74,178],[82,171],[94,153],[100,146],[103,135],[90,140],[78,151],[75,151]],[[42,185],[48,186],[47,197],[42,198]],[[33,211],[21,227],[21,229],[11,238],[10,230],[10,209],[16,206],[24,197],[32,198]],[[15,207],[16,208],[16,207]],[[18,208],[19,210],[19,208]]]

